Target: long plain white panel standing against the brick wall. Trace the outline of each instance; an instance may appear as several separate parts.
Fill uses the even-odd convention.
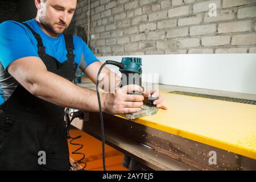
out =
[[[256,94],[256,54],[102,56],[121,61],[141,57],[143,73],[159,73],[159,84]],[[118,68],[114,68],[118,73]]]

